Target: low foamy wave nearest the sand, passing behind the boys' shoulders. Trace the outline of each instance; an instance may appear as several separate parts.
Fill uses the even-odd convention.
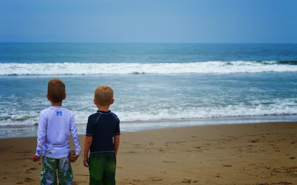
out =
[[[87,123],[88,116],[93,112],[73,111],[77,124]],[[227,106],[224,108],[189,108],[189,109],[164,109],[151,111],[114,111],[124,122],[137,121],[159,121],[159,120],[179,120],[217,117],[240,117],[259,115],[294,115],[297,114],[296,106],[257,106],[239,107]],[[36,115],[14,115],[0,116],[0,126],[34,125],[38,123],[39,116]]]

